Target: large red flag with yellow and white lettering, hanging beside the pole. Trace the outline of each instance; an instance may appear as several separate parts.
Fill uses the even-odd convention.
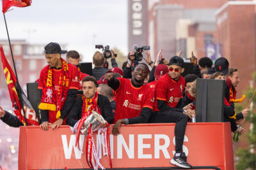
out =
[[[0,51],[1,51],[1,59],[2,59],[4,74],[5,74],[5,78],[6,78],[6,83],[7,83],[10,98],[12,101],[13,112],[19,118],[20,122],[25,124],[22,106],[20,104],[19,96],[18,96],[16,87],[15,87],[15,85],[19,86],[19,87],[20,87],[20,85],[17,83],[17,79],[16,79],[15,74],[12,71],[12,67],[6,60],[2,46],[0,48]],[[28,98],[25,96],[24,92],[22,92],[20,99],[22,99],[22,101],[24,103],[24,110],[26,112],[26,118],[27,118],[28,125],[39,125],[35,110],[33,110],[33,107],[31,106],[31,104],[30,104]]]

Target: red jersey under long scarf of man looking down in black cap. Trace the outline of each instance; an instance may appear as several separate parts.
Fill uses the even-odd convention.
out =
[[[43,89],[43,84],[44,84],[44,77],[45,74],[48,73],[47,66],[45,66],[41,73],[40,73],[40,78],[38,82],[38,89]],[[60,74],[61,74],[61,69],[52,69],[52,85],[54,86],[54,90],[60,89]],[[73,64],[68,64],[68,75],[69,75],[69,88],[68,89],[79,89],[79,75],[78,75],[78,70],[77,67],[74,66]],[[55,92],[55,98],[57,97],[58,93]],[[62,110],[62,108],[61,108]],[[49,120],[48,122],[54,123],[56,121],[56,111],[49,111]],[[63,122],[65,124],[65,122]]]

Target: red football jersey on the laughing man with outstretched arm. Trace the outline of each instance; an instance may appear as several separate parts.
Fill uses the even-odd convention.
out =
[[[129,79],[117,79],[120,82],[120,86],[116,90],[114,124],[119,119],[138,117],[142,108],[153,109],[154,101],[152,101],[152,98],[154,95],[150,92],[148,85],[142,85],[136,88]]]

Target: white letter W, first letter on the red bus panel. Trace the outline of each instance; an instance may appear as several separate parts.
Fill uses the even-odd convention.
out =
[[[62,139],[63,150],[65,154],[65,159],[70,159],[72,154],[72,148],[74,148],[76,159],[81,159],[82,152],[80,152],[79,149],[76,147],[76,136],[75,135],[70,136],[69,145],[67,144],[67,135],[61,135],[61,139]],[[83,144],[84,144],[84,135],[80,135],[80,138],[79,138],[80,148],[83,148]]]

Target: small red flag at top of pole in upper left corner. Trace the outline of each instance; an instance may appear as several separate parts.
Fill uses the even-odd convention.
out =
[[[5,13],[11,6],[26,7],[30,6],[32,0],[3,0],[3,13]]]

